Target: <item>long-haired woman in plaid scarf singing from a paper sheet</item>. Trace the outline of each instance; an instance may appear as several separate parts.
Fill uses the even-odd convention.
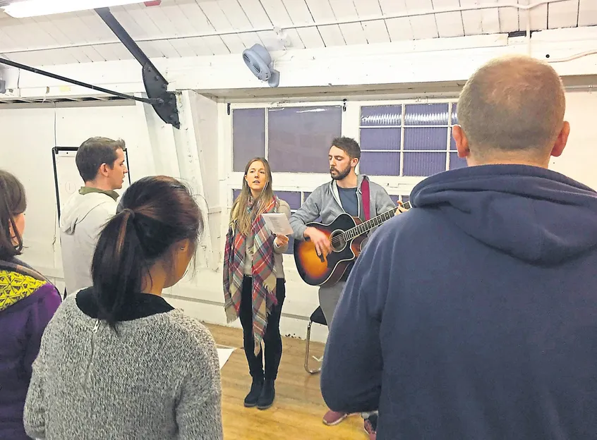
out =
[[[279,323],[286,296],[282,254],[288,248],[288,237],[273,236],[265,226],[261,214],[273,212],[290,217],[287,202],[273,193],[270,164],[263,158],[251,159],[245,168],[241,194],[232,206],[223,274],[227,319],[241,319],[253,378],[244,404],[260,410],[270,408],[274,402],[274,383],[282,358]]]

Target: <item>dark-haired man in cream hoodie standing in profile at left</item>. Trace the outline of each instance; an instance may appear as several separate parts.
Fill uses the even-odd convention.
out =
[[[116,213],[126,169],[123,140],[90,138],[76,155],[85,185],[64,205],[60,218],[62,267],[66,293],[92,285],[91,260],[102,226]]]

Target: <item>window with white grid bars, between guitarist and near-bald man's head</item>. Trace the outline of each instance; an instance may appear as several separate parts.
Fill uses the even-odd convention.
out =
[[[361,171],[372,176],[431,176],[466,166],[452,139],[456,104],[361,107]]]

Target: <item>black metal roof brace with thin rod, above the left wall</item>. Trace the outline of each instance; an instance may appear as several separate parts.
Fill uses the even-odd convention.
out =
[[[66,78],[62,75],[56,75],[55,73],[42,71],[41,69],[26,66],[25,64],[17,63],[16,61],[11,61],[8,59],[0,58],[0,64],[23,69],[23,71],[37,73],[39,75],[44,75],[48,78],[54,78],[55,80],[68,82],[70,84],[85,87],[87,89],[97,90],[98,92],[111,94],[123,99],[132,99],[134,101],[150,104],[157,113],[157,116],[162,118],[162,121],[169,123],[176,128],[181,128],[179,111],[176,108],[176,94],[174,94],[174,92],[168,92],[168,81],[166,78],[159,73],[147,55],[145,55],[140,47],[138,47],[137,43],[135,43],[131,36],[128,35],[128,32],[124,30],[119,21],[116,20],[116,18],[112,15],[109,8],[98,8],[95,11],[102,18],[102,20],[104,20],[104,23],[108,25],[112,32],[114,32],[116,37],[120,39],[126,49],[128,49],[128,51],[131,52],[140,65],[143,66],[142,77],[147,98],[135,97],[131,94],[124,94],[115,92],[114,90],[104,89],[104,87],[97,87],[96,85],[91,85],[86,82],[73,80],[72,78]]]

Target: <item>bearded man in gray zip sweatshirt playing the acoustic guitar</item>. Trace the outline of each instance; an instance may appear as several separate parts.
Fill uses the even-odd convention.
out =
[[[290,218],[294,239],[305,240],[308,238],[315,244],[319,255],[330,253],[330,240],[324,233],[316,228],[307,227],[306,224],[318,218],[323,224],[330,224],[343,212],[362,220],[365,219],[362,185],[363,181],[368,180],[368,177],[364,174],[357,175],[355,171],[356,165],[361,159],[361,148],[358,143],[351,138],[334,139],[328,159],[332,181],[316,188],[305,200],[303,206]],[[397,207],[386,191],[373,182],[369,182],[369,198],[371,217]],[[328,326],[332,324],[334,310],[350,270],[351,266],[346,269],[338,283],[319,289],[319,303]],[[346,416],[347,414],[344,412],[330,410],[323,417],[323,422],[327,425],[338,424]]]

